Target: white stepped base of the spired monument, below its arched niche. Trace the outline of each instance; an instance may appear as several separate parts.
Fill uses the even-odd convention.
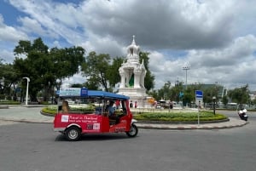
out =
[[[130,103],[137,103],[137,108],[148,108],[150,104],[148,104],[148,94],[146,94],[146,88],[119,88],[119,92],[117,94],[122,94],[130,97]]]

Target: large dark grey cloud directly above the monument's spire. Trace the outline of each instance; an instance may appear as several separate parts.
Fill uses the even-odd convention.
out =
[[[232,3],[98,2],[84,3],[84,18],[87,30],[101,37],[111,35],[124,42],[135,34],[151,49],[214,48],[230,41],[232,14],[226,9],[232,9]]]

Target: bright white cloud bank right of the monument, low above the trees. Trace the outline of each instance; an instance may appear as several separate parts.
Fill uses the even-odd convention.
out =
[[[189,50],[183,59],[166,60],[159,53],[150,55],[150,70],[158,77],[156,86],[163,86],[163,81],[177,80],[185,83],[185,71],[182,66],[189,61],[188,83],[222,83],[229,88],[251,84],[256,88],[253,73],[256,72],[256,37],[237,37],[226,48],[207,50]],[[234,84],[236,83],[236,84]]]

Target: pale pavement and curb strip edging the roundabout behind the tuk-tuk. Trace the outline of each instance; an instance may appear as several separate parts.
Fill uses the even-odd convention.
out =
[[[22,123],[53,123],[54,117],[41,114],[42,106],[0,106],[0,124],[7,122]],[[196,124],[156,124],[156,123],[136,123],[138,128],[154,129],[220,129],[235,128],[246,125],[247,122],[239,118],[230,117],[230,121],[223,123],[196,123]]]

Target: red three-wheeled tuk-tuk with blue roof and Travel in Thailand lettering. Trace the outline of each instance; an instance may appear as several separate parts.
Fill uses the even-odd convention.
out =
[[[67,140],[79,140],[81,134],[91,133],[125,133],[128,137],[135,137],[138,133],[128,96],[87,88],[61,88],[59,96],[63,102],[55,115],[54,130],[64,134]],[[79,105],[65,106],[65,99],[78,98]],[[110,101],[115,103],[111,117],[108,111]]]

